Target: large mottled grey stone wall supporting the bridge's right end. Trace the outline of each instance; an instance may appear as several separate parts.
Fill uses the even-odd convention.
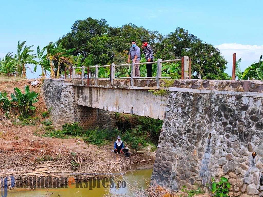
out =
[[[202,89],[170,88],[151,179],[209,192],[226,177],[230,196],[263,196],[263,93]]]

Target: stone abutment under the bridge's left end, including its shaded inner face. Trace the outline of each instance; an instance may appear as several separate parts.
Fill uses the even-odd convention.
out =
[[[56,128],[73,122],[79,122],[85,129],[116,127],[114,112],[77,105],[75,86],[69,81],[45,79],[41,95],[47,108],[51,108],[50,116]]]

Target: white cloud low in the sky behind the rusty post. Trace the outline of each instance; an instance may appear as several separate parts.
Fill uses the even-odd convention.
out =
[[[236,61],[242,58],[241,70],[244,71],[247,66],[254,62],[258,62],[261,55],[263,55],[263,45],[243,45],[236,43],[224,43],[216,45],[224,58],[228,61],[227,72],[232,76],[232,64],[233,64],[233,54],[236,53]]]

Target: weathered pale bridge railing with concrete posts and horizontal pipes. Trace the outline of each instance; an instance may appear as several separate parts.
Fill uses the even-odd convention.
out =
[[[89,80],[95,80],[95,85],[97,85],[97,80],[98,79],[109,79],[110,80],[110,85],[113,87],[114,80],[118,79],[130,79],[131,80],[131,86],[134,87],[134,79],[156,79],[156,84],[157,88],[160,87],[160,79],[171,79],[172,77],[162,77],[161,76],[161,71],[162,71],[162,63],[166,62],[176,62],[176,61],[181,61],[181,66],[182,66],[182,79],[187,79],[191,78],[191,58],[188,58],[188,56],[184,56],[181,59],[174,59],[174,60],[162,60],[158,59],[157,61],[153,62],[142,62],[142,63],[131,63],[131,64],[114,64],[112,63],[111,65],[95,65],[95,66],[82,66],[82,67],[74,67],[72,68],[72,81],[74,84],[75,79],[81,79],[82,81],[82,86],[84,85],[84,79],[87,79],[87,86],[89,86]],[[157,63],[157,71],[156,71],[156,77],[135,77],[135,66],[136,65],[141,65],[141,64],[155,64]],[[190,63],[190,64],[189,64]],[[130,77],[115,77],[115,67],[117,66],[131,66],[131,75]],[[98,72],[100,67],[110,67],[110,78],[107,77],[98,77]],[[89,69],[90,68],[95,68],[95,76],[94,77],[89,77]],[[87,69],[87,77],[85,77],[85,69]],[[189,69],[189,72],[188,72]],[[75,71],[81,70],[81,75],[75,75]],[[187,76],[189,73],[189,76]],[[80,77],[79,77],[80,76]]]

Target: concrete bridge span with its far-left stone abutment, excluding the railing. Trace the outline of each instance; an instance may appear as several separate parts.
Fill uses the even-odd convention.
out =
[[[79,122],[84,128],[114,127],[114,112],[130,113],[163,120],[167,98],[154,95],[156,80],[116,80],[112,86],[108,79],[73,81],[45,79],[42,96],[55,127]]]

